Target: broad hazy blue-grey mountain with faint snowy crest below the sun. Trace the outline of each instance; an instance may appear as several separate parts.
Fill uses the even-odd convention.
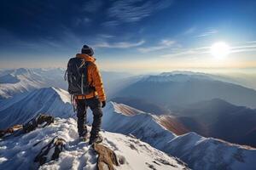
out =
[[[234,105],[256,108],[256,91],[205,74],[165,73],[144,77],[120,90],[115,97],[150,99],[155,105],[174,109],[201,100],[224,99]]]

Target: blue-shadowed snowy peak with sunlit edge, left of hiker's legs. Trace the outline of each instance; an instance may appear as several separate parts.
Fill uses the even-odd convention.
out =
[[[38,113],[59,117],[73,116],[67,91],[61,88],[40,88],[3,100],[0,105],[0,128],[22,124]]]

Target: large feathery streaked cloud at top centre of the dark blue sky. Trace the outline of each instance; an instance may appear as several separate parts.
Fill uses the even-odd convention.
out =
[[[160,1],[142,1],[127,0],[116,1],[108,8],[108,17],[120,22],[136,22],[148,17],[156,11],[168,8],[172,4],[172,0]]]

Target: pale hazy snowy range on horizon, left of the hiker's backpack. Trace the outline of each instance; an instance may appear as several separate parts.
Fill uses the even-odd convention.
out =
[[[37,88],[58,87],[67,89],[65,70],[56,69],[14,69],[0,71],[0,99],[26,93]]]

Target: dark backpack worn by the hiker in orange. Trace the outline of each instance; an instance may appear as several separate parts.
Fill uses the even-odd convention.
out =
[[[87,68],[90,61],[74,57],[67,63],[65,79],[68,82],[68,93],[73,95],[90,94],[95,88],[89,85]]]

